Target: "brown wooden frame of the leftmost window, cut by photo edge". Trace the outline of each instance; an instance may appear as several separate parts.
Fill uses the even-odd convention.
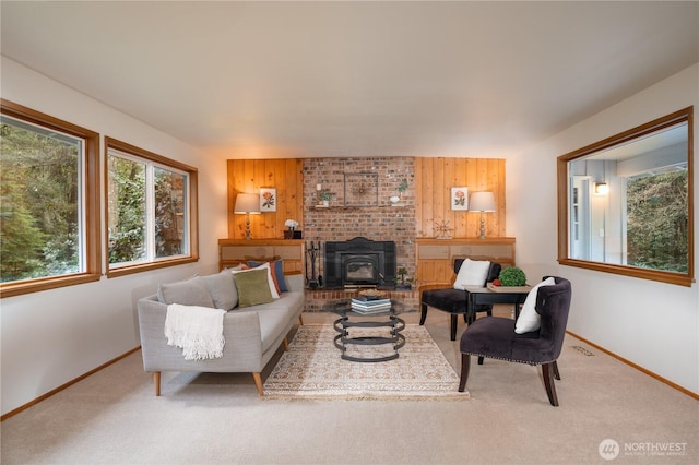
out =
[[[15,283],[0,283],[0,298],[99,281],[102,277],[99,133],[5,100],[4,98],[0,98],[0,112],[8,117],[49,130],[59,131],[84,141],[84,166],[82,169],[84,201],[80,207],[83,208],[81,216],[84,223],[82,228],[82,234],[84,235],[82,253],[84,257],[81,259],[84,261],[85,266],[84,271],[80,273],[25,279]]]

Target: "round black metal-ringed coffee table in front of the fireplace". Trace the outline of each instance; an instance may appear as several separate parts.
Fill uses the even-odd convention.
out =
[[[405,329],[405,321],[398,317],[398,302],[391,301],[391,308],[381,312],[370,314],[359,313],[352,309],[351,301],[342,301],[333,306],[333,312],[340,318],[333,322],[337,334],[334,338],[335,347],[342,351],[342,359],[360,362],[378,362],[395,360],[399,357],[398,350],[405,345],[405,336],[401,331]],[[363,318],[364,317],[364,318]],[[368,319],[366,317],[374,317]],[[386,335],[352,336],[352,329],[358,327],[386,327]],[[393,354],[380,357],[356,357],[347,354],[348,345],[377,346],[383,344],[393,345]]]

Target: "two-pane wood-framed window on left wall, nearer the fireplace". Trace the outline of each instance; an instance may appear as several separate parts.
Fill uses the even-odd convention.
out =
[[[197,169],[105,138],[108,275],[198,259]]]

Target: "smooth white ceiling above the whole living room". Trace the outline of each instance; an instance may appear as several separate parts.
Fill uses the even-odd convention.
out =
[[[699,61],[697,1],[0,8],[2,55],[225,158],[502,157]]]

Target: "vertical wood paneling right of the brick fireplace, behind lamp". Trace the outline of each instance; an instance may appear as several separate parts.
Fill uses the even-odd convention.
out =
[[[477,237],[481,213],[451,210],[451,188],[495,194],[497,211],[485,213],[486,236],[505,237],[505,160],[499,158],[416,158],[416,237],[435,237],[435,224],[448,222],[454,238]]]

